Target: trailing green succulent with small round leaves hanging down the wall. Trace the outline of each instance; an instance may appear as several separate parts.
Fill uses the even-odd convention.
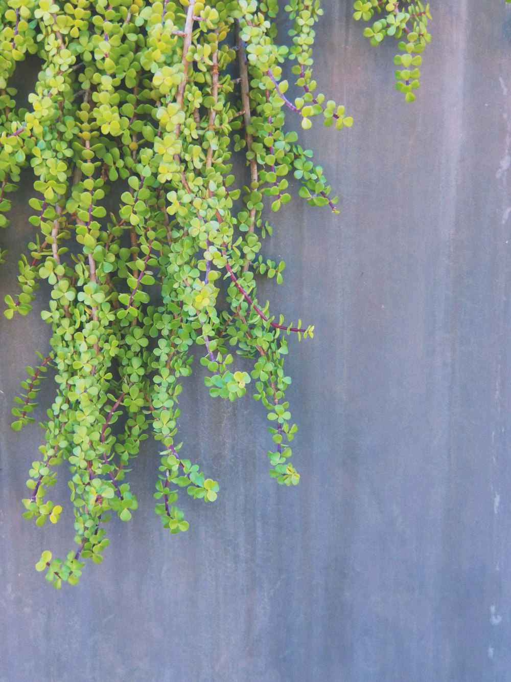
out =
[[[381,3],[360,4],[370,5],[357,10],[367,19]],[[43,552],[36,565],[57,588],[76,584],[85,560],[102,561],[112,514],[127,521],[137,508],[128,474],[149,433],[159,451],[155,511],[170,533],[188,529],[179,492],[217,498],[217,481],[178,436],[193,352],[213,398],[251,389],[270,423],[270,476],[298,483],[284,361],[288,337],[312,337],[313,327],[259,301],[258,280],[281,284],[285,267],[264,258],[262,239],[273,229],[267,209],[291,200],[290,175],[310,206],[337,212],[294,128],[313,119],[349,128],[352,118],[313,80],[320,2],[285,6],[289,46],[276,40],[278,11],[277,0],[0,0],[0,226],[21,170],[35,177],[33,237],[5,316],[28,314],[40,282],[50,286],[50,348],[27,368],[12,427],[34,421],[51,370],[55,399],[23,503],[37,525],[57,522],[63,508],[48,490],[67,464],[77,548],[65,559]],[[373,41],[407,32],[402,13],[392,23],[386,11]],[[408,40],[405,55],[426,38]],[[27,55],[41,66],[20,108],[12,77]],[[247,164],[239,186],[234,153]],[[251,359],[251,372],[236,355]]]

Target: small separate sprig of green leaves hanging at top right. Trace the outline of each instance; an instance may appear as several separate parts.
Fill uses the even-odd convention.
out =
[[[394,64],[398,67],[395,72],[396,88],[405,95],[407,102],[414,102],[414,90],[419,87],[420,55],[431,42],[428,32],[428,20],[431,19],[429,5],[419,0],[356,0],[353,8],[353,18],[357,21],[371,21],[378,14],[377,20],[364,29],[364,35],[369,38],[371,45],[379,45],[387,35],[399,40],[401,53],[394,57]]]

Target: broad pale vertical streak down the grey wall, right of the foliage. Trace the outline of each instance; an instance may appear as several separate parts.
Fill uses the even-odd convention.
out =
[[[442,3],[443,4],[443,3]],[[455,8],[453,6],[455,4]],[[444,524],[444,538],[441,549],[444,557],[438,557],[439,566],[444,566],[444,575],[439,576],[440,583],[444,587],[437,589],[437,617],[440,614],[446,618],[444,622],[452,622],[450,612],[450,587],[445,584],[446,572],[448,572],[448,552],[452,546],[452,528],[450,527],[450,499],[453,489],[456,487],[456,466],[454,463],[456,439],[456,371],[457,351],[459,344],[459,308],[457,298],[460,295],[459,279],[456,278],[455,263],[460,239],[460,230],[463,226],[458,222],[459,201],[459,171],[461,166],[461,153],[463,150],[463,111],[465,107],[465,68],[467,59],[467,0],[457,0],[456,3],[446,7],[436,8],[435,23],[443,26],[446,50],[444,60],[441,62],[444,74],[442,83],[442,135],[440,148],[442,156],[439,168],[439,205],[438,221],[439,229],[438,244],[439,257],[436,265],[437,278],[439,280],[439,298],[435,303],[437,316],[435,329],[435,369],[438,374],[435,385],[439,388],[437,405],[438,424],[442,424],[442,436],[439,437],[438,445],[446,456],[444,477],[445,498],[439,503],[442,505],[440,514]],[[442,619],[443,620],[443,619]],[[452,647],[452,639],[443,634],[433,635],[433,642],[439,647],[434,653],[435,663],[440,672],[441,679],[452,678],[455,666],[455,652]]]

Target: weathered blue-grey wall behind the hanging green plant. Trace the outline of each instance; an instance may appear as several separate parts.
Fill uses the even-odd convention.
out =
[[[42,432],[9,427],[48,328],[37,311],[1,318],[2,682],[511,680],[511,6],[431,4],[409,105],[394,45],[370,50],[352,3],[323,3],[316,77],[356,123],[303,140],[341,215],[294,201],[265,246],[288,263],[265,289],[273,309],[317,332],[288,361],[298,488],[266,473],[258,404],[211,401],[199,368],[181,428],[218,501],[189,504],[190,531],[167,535],[146,441],[134,520],[54,591],[33,566],[69,550],[71,520],[22,520]],[[27,176],[1,235],[13,257],[30,190]]]

